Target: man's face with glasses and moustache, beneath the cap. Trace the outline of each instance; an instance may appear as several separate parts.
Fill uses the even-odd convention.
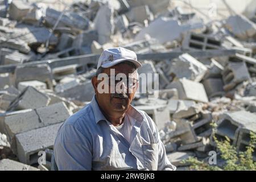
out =
[[[114,69],[114,70],[113,70]],[[110,72],[114,71],[114,75],[111,75]],[[97,80],[96,77],[93,78],[93,86],[96,89],[96,97],[98,104],[100,107],[105,111],[106,114],[115,115],[124,113],[130,106],[131,101],[133,101],[135,92],[138,88],[138,82],[136,81],[137,72],[133,67],[127,64],[117,64],[110,68],[105,68],[104,73],[109,76],[109,81],[112,79],[114,81],[113,76],[117,76],[118,73],[123,73],[123,76],[126,76],[127,79],[134,80],[134,88],[129,88],[127,84],[124,84],[126,81],[115,81],[114,85],[104,85],[108,86],[109,92],[108,93],[99,93],[100,88],[98,88],[98,84],[100,84],[101,80]],[[120,74],[119,74],[120,75]],[[95,82],[95,84],[94,84]],[[97,86],[96,86],[97,85]],[[104,89],[104,88],[103,88]],[[112,92],[111,92],[112,91]]]

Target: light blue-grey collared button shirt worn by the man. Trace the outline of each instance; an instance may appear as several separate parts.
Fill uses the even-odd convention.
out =
[[[152,119],[133,106],[126,114],[134,121],[131,144],[107,121],[94,96],[57,133],[59,170],[175,170]]]

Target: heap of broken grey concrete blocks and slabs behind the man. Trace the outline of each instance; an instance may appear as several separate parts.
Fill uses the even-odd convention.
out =
[[[139,74],[159,74],[158,97],[147,90],[132,104],[156,123],[178,169],[216,150],[212,123],[218,139],[244,151],[256,132],[255,16],[205,22],[167,0],[77,1],[63,10],[1,1],[0,169],[51,169],[57,130],[90,102],[97,58],[117,46],[137,53]]]

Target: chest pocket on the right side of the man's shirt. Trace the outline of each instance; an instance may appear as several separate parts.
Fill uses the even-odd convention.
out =
[[[156,171],[158,169],[158,143],[142,144],[142,150],[146,168]]]

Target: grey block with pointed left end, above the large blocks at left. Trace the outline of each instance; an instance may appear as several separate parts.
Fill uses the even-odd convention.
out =
[[[47,106],[49,101],[50,98],[47,96],[47,94],[39,92],[32,86],[28,86],[10,104],[8,110],[36,109]]]

